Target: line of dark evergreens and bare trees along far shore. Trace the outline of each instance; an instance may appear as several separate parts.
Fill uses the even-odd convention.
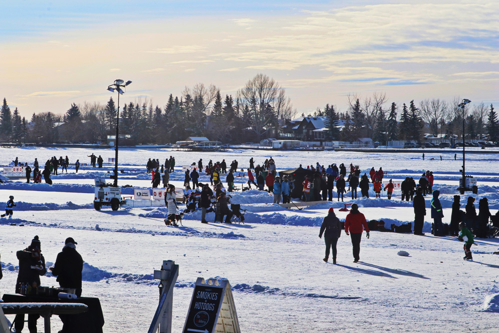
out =
[[[465,118],[466,139],[499,140],[498,115],[494,106],[483,103],[459,107],[461,100],[414,100],[402,106],[390,103],[385,93],[361,98],[348,96],[349,107],[338,112],[333,104],[317,108],[309,116],[325,117],[325,138],[354,142],[372,138],[381,144],[402,140],[421,142],[425,133],[462,137]],[[0,140],[12,142],[59,143],[105,142],[116,131],[117,105],[113,97],[106,105],[72,103],[64,114],[42,112],[28,122],[13,112],[3,99],[0,112]],[[120,105],[120,143],[135,145],[169,143],[189,136],[206,136],[224,143],[258,142],[277,137],[281,126],[295,115],[289,97],[275,80],[264,74],[251,78],[235,96],[221,94],[215,85],[199,83],[182,94],[170,94],[164,106],[147,99]],[[304,116],[305,114],[302,114]],[[339,126],[339,121],[342,126]]]

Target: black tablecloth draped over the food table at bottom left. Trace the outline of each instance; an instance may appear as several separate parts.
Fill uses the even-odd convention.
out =
[[[18,294],[4,294],[2,300],[5,303],[82,303],[88,307],[88,311],[76,315],[61,315],[64,325],[72,333],[102,333],[104,326],[104,315],[98,298],[79,297],[75,300],[60,300],[55,297],[24,296]]]

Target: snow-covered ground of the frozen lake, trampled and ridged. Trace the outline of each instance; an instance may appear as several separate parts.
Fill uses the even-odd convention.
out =
[[[86,156],[92,152],[105,161],[114,157],[111,149],[0,148],[0,165],[8,165],[16,156],[30,163],[37,157],[42,164],[54,155],[88,163]],[[454,152],[425,154],[422,161],[420,154],[412,153],[122,149],[119,161],[125,173],[119,184],[149,187],[150,175],[142,165],[148,158],[163,163],[170,155],[179,167],[171,176],[176,186],[183,184],[180,167],[200,158],[205,164],[210,159],[226,159],[228,164],[237,159],[240,167],[246,167],[250,157],[261,163],[272,156],[278,169],[316,162],[326,166],[354,163],[362,172],[382,167],[393,179],[418,179],[423,170],[432,170],[434,188],[442,192],[444,223],[450,220],[462,165],[461,155],[455,161]],[[477,177],[479,194],[465,194],[463,209],[468,196],[477,197],[477,209],[478,199],[483,197],[489,198],[492,214],[499,209],[499,172],[494,167],[498,159],[496,154],[467,154],[467,173]],[[499,248],[497,239],[478,239],[478,245],[472,247],[475,262],[463,261],[463,243],[450,236],[433,237],[428,214],[425,236],[372,232],[370,239],[363,238],[358,264],[352,263],[351,243],[343,234],[338,241],[338,265],[325,264],[318,226],[329,207],[335,208],[340,220],[345,218],[347,213],[338,211],[341,202],[288,210],[272,205],[269,194],[247,191],[233,198],[248,209],[245,225],[202,225],[200,213],[195,212],[186,216],[183,227],[166,227],[164,207],[116,212],[92,208],[93,178],[107,177],[112,168],[82,167],[78,174],[69,170],[54,177],[52,186],[28,185],[23,180],[0,184],[0,201],[14,195],[18,203],[13,219],[0,220],[1,294],[13,292],[15,252],[29,245],[34,235],[40,237],[49,263],[55,261],[64,239],[73,237],[86,263],[83,295],[100,299],[104,332],[146,330],[158,302],[152,273],[168,259],[180,265],[173,332],[183,328],[197,277],[229,279],[242,332],[497,332],[499,256],[493,254]],[[200,181],[209,180],[202,174]],[[132,193],[131,189],[123,192]],[[426,199],[429,213],[430,197]],[[384,196],[345,202],[358,203],[368,220],[384,220],[387,228],[392,223],[413,222],[412,205],[400,201],[399,191],[392,200]],[[213,214],[208,214],[207,220],[213,219]],[[409,257],[398,256],[400,250]],[[48,274],[42,277],[42,285],[57,283]],[[52,323],[57,332],[59,322]],[[39,325],[41,328],[41,321]]]

